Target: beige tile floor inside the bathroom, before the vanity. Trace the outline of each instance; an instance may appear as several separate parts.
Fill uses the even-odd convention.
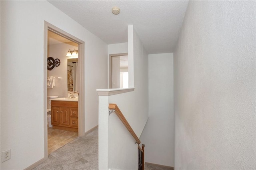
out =
[[[71,142],[77,136],[78,132],[59,130],[48,127],[48,154]]]

